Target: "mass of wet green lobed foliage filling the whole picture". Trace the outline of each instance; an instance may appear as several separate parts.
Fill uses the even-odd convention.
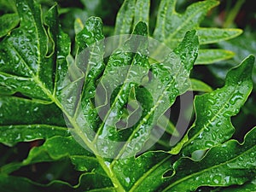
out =
[[[116,38],[119,46],[107,58],[99,17],[75,20],[70,40],[56,4],[43,13],[33,0],[0,3],[19,15],[0,18],[1,191],[255,189],[256,127],[246,128],[239,142],[230,119],[253,90],[255,49],[234,61],[241,64],[229,70],[222,88],[190,79],[195,64],[234,55],[224,44],[206,45],[241,30],[200,26],[218,1],[193,3],[179,14],[177,1],[162,0],[151,32],[149,1],[125,0],[114,34],[132,35]],[[99,1],[82,3],[93,14]],[[171,48],[162,61],[152,60],[164,49],[150,47],[150,37]],[[183,136],[166,113],[192,90],[199,93],[195,122]],[[155,141],[152,133],[160,131]],[[170,145],[172,137],[182,138]],[[22,156],[19,146],[27,143]]]

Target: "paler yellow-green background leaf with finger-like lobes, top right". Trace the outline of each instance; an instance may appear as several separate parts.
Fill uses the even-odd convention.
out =
[[[127,34],[131,32],[132,17],[134,17],[134,25],[137,23],[138,18],[148,23],[149,1],[130,1],[126,0],[119,10],[117,21],[115,24],[115,35]],[[241,34],[240,29],[220,29],[220,28],[206,28],[201,27],[200,23],[207,15],[207,12],[213,7],[218,5],[218,1],[202,1],[191,4],[183,14],[176,11],[176,0],[163,0],[160,1],[158,8],[158,15],[156,25],[152,37],[159,40],[161,43],[166,44],[168,47],[174,49],[179,44],[185,32],[195,29],[198,31],[200,44],[213,44],[220,41],[235,38]],[[137,14],[144,13],[144,17]],[[153,55],[159,55],[162,50],[154,48]],[[234,56],[229,50],[224,49],[200,49],[199,57],[196,64],[209,64],[215,61],[222,61]]]

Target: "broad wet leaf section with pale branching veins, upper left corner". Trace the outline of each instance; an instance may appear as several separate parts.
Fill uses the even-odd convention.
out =
[[[49,52],[47,56],[47,51],[53,50],[48,49],[48,38],[38,5],[33,4],[32,1],[27,3],[17,1],[17,4],[20,27],[4,38],[0,45],[1,84],[11,92],[20,92],[24,96],[50,102],[53,100],[55,91],[58,92],[58,89],[61,89],[58,86],[65,73],[65,65],[67,68],[64,54],[69,51],[69,40],[65,34],[60,32],[58,23],[55,22],[55,26],[51,26],[55,27],[51,31],[55,32],[55,38],[51,37],[55,40],[53,46],[55,54]],[[63,44],[58,46],[58,43]],[[57,62],[56,68],[63,68],[63,71],[56,75],[53,72],[54,61]],[[55,82],[52,82],[54,78]],[[55,84],[57,86],[53,90]]]

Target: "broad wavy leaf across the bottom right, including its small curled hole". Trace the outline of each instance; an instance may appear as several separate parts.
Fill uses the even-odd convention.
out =
[[[200,186],[241,185],[255,177],[255,131],[247,134],[244,143],[230,140],[211,148],[199,161],[147,152],[118,160],[113,171],[126,191],[195,191]]]

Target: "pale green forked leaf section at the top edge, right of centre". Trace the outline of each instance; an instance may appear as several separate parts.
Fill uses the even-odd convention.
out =
[[[176,12],[177,1],[161,1],[153,37],[165,42],[171,48],[177,46],[175,39],[182,38],[184,32],[195,29],[207,12],[218,5],[217,1],[193,3],[183,15]],[[170,42],[172,41],[172,44]]]

